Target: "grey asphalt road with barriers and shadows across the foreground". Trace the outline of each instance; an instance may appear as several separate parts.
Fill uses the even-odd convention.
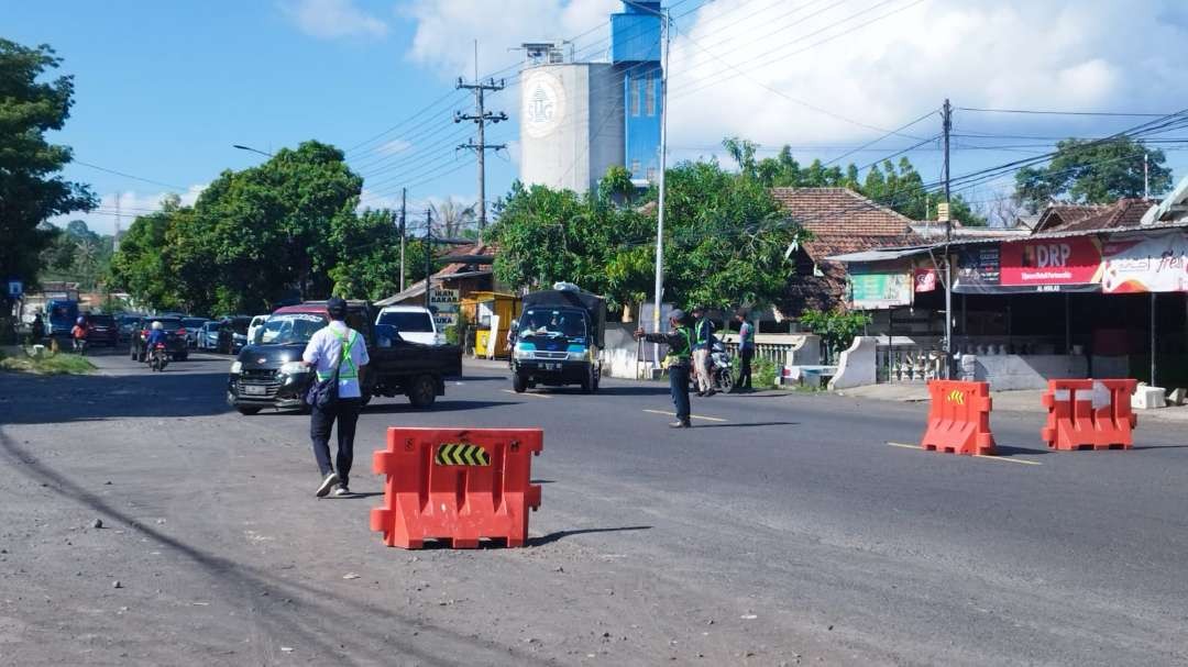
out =
[[[0,375],[2,663],[1188,665],[1171,425],[1049,453],[996,412],[1005,456],[969,458],[887,444],[921,405],[720,395],[671,431],[657,383],[468,368],[369,406],[359,497],[317,501],[308,418],[228,412],[226,357],[99,363]],[[390,425],[543,427],[530,545],[384,547]]]

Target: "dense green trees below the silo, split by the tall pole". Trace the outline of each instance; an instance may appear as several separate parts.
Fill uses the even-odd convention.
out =
[[[718,163],[669,170],[665,199],[666,300],[727,306],[771,303],[800,239],[758,179]],[[655,196],[655,193],[649,195]],[[650,296],[656,207],[620,207],[607,189],[577,195],[517,183],[493,228],[495,277],[517,287],[568,280],[606,294],[612,306]]]

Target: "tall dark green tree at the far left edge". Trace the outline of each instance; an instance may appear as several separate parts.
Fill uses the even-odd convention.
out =
[[[48,45],[30,49],[0,39],[0,275],[30,286],[42,250],[56,236],[45,221],[95,205],[84,185],[57,176],[72,158],[70,148],[45,139],[46,132],[62,129],[74,103],[72,77],[42,81],[61,64]],[[7,294],[0,299],[7,304]]]

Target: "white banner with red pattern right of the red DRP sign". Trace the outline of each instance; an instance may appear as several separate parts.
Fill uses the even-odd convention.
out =
[[[1188,292],[1188,236],[1183,231],[1111,240],[1101,254],[1101,288],[1108,294]]]

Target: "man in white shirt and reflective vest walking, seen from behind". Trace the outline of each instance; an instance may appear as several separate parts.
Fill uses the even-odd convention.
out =
[[[317,497],[326,497],[331,493],[334,497],[343,497],[350,495],[347,484],[350,464],[354,462],[355,423],[359,420],[359,408],[362,407],[359,371],[371,360],[364,335],[347,326],[347,301],[334,297],[326,301],[326,310],[330,316],[330,324],[310,337],[305,352],[302,354],[302,362],[314,368],[318,382],[331,379],[335,367],[339,368],[339,399],[324,408],[312,406],[309,434],[314,442],[317,468],[322,472]],[[339,421],[339,455],[331,466],[330,428],[334,427],[335,419]]]

